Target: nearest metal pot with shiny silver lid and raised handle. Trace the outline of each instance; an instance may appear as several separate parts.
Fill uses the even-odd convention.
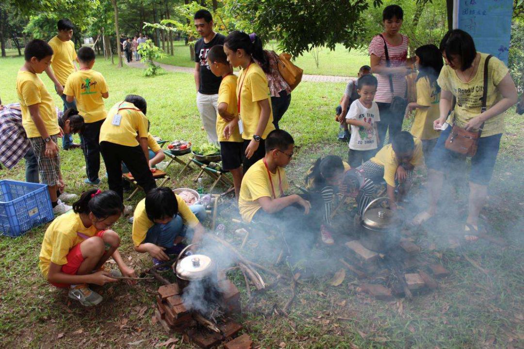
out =
[[[216,272],[215,263],[209,256],[191,254],[182,258],[184,253],[195,245],[198,245],[198,243],[187,245],[171,266],[174,274],[177,275],[177,283],[181,288],[187,286],[190,281],[209,278]]]

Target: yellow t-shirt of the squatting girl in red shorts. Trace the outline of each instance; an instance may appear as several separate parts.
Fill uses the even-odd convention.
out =
[[[43,235],[38,266],[42,275],[47,278],[51,262],[58,265],[67,264],[67,255],[71,249],[84,241],[77,233],[93,237],[97,231],[94,226],[85,228],[80,215],[73,210],[55,218]]]

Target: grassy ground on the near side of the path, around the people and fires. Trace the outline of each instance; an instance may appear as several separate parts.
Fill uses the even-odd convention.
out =
[[[23,61],[19,58],[0,60],[2,85],[0,94],[4,103],[15,102],[16,71]],[[151,132],[167,139],[187,139],[194,143],[205,139],[195,106],[194,81],[191,74],[163,73],[145,78],[141,71],[124,67],[116,69],[110,63],[97,59],[94,67],[105,76],[110,87],[109,108],[126,94],[142,95],[148,102]],[[53,91],[47,76],[42,76],[48,89]],[[291,106],[281,121],[283,129],[292,133],[298,150],[288,168],[292,183],[301,183],[305,171],[316,157],[338,154],[345,157],[346,145],[336,142],[337,126],[333,121],[334,107],[340,100],[344,84],[301,83],[295,91]],[[57,104],[60,98],[54,96]],[[409,121],[405,122],[409,127]],[[247,305],[242,274],[231,272],[230,277],[242,292],[244,311],[237,320],[256,343],[265,348],[278,347],[281,342],[288,348],[479,348],[522,347],[522,119],[509,112],[507,134],[503,137],[501,152],[489,188],[489,198],[483,214],[487,218],[489,234],[505,238],[507,247],[479,241],[466,246],[463,252],[448,249],[447,235],[457,231],[463,217],[455,205],[447,201],[442,219],[425,230],[413,234],[423,247],[419,259],[442,263],[451,276],[440,281],[439,289],[415,297],[412,301],[381,302],[357,291],[359,280],[347,273],[339,287],[328,286],[333,273],[340,268],[338,260],[345,250],[323,249],[324,269],[312,282],[297,288],[297,297],[291,306],[289,318],[271,314],[271,307],[282,307],[289,297],[286,282],[280,282],[266,292],[255,295]],[[88,187],[83,184],[85,173],[80,151],[61,152],[62,172],[67,190],[80,194]],[[195,187],[191,181],[193,170],[179,176],[179,165],[171,165],[168,173],[171,187]],[[101,173],[103,173],[103,169]],[[23,161],[10,171],[0,170],[0,179],[24,179]],[[423,179],[422,179],[423,181]],[[420,182],[420,181],[419,181]],[[209,187],[209,179],[205,185]],[[418,183],[420,184],[420,183]],[[450,187],[457,186],[449,182]],[[107,188],[104,182],[102,188]],[[446,191],[451,191],[446,188]],[[417,186],[413,189],[415,202],[424,197]],[[143,194],[132,202],[143,198]],[[459,197],[457,207],[464,205]],[[454,204],[454,202],[451,202]],[[227,205],[224,205],[227,206]],[[448,207],[449,206],[449,207]],[[350,208],[347,208],[347,210]],[[347,210],[343,209],[347,215]],[[413,208],[414,213],[417,208]],[[341,216],[344,218],[343,213]],[[219,221],[226,226],[226,238],[235,245],[241,241],[233,233],[238,228],[230,220],[235,216],[231,208],[223,209]],[[350,220],[347,218],[345,220]],[[446,226],[445,222],[456,222]],[[105,286],[104,301],[89,309],[70,303],[67,295],[43,280],[37,262],[45,226],[35,228],[17,239],[0,238],[0,347],[154,347],[165,341],[167,335],[158,324],[151,324],[157,282]],[[138,272],[151,264],[145,255],[133,251],[130,224],[118,221],[114,229],[122,237],[122,254]],[[342,239],[341,237],[339,237]],[[337,240],[341,241],[341,240]],[[260,258],[261,246],[268,245],[278,254],[278,239],[253,238],[246,245],[249,258]],[[428,246],[435,244],[436,250]],[[439,252],[434,253],[434,252]],[[478,261],[488,275],[468,264],[460,253]],[[131,260],[127,258],[130,257]],[[421,263],[422,263],[421,262]],[[268,261],[263,262],[268,264]],[[279,267],[286,273],[286,268]],[[266,281],[272,282],[269,276]],[[345,303],[344,303],[345,301]],[[400,302],[403,310],[399,310]],[[144,316],[140,310],[147,307]],[[341,320],[340,318],[351,319]],[[180,338],[179,335],[175,335]],[[181,341],[177,348],[191,347]]]

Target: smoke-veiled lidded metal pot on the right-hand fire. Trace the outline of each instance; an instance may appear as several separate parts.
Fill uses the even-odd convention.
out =
[[[376,207],[377,202],[389,200],[388,197],[379,197],[366,206],[361,220],[361,244],[368,250],[386,253],[400,242],[401,221],[394,211]]]

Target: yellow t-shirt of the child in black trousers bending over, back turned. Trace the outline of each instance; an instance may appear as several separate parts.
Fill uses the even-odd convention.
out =
[[[118,102],[107,112],[100,128],[100,142],[136,147],[137,133],[139,138],[147,138],[146,116],[133,103]]]

